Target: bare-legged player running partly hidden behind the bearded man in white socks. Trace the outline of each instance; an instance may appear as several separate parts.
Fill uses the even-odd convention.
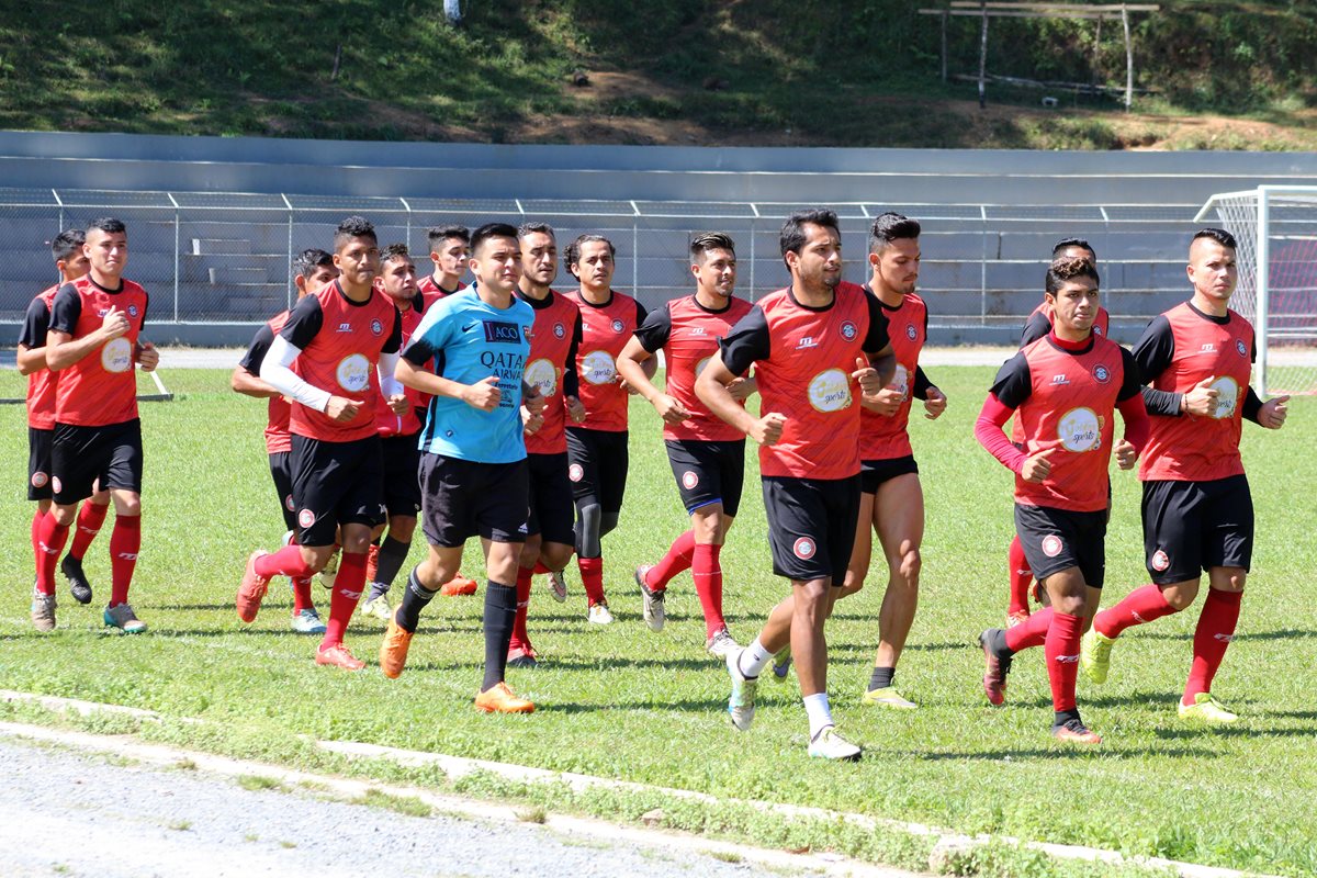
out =
[[[928,309],[914,292],[918,279],[919,224],[900,213],[874,219],[865,290],[882,305],[897,367],[893,382],[860,412],[860,517],[846,584],[836,599],[864,587],[873,550],[872,528],[888,561],[888,587],[878,611],[878,650],[864,703],[905,710],[915,704],[897,692],[893,678],[919,603],[923,541],[923,488],[907,426],[915,399],[923,400],[930,420],[947,409],[946,394],[919,367],[919,351],[928,337]]]

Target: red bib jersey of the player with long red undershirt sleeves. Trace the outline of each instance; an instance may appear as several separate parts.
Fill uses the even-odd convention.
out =
[[[1055,336],[1026,345],[997,373],[992,392],[1015,409],[1022,450],[1055,449],[1039,483],[1015,475],[1015,502],[1072,512],[1106,508],[1115,404],[1139,392],[1134,357],[1101,336],[1068,350]]]

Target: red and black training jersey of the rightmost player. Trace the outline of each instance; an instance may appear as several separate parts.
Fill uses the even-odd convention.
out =
[[[1214,317],[1187,301],[1148,324],[1134,346],[1144,380],[1179,395],[1213,378],[1218,396],[1216,411],[1205,417],[1169,416],[1148,405],[1152,436],[1141,479],[1208,482],[1243,473],[1239,434],[1249,401],[1256,407],[1249,387],[1254,355],[1252,325],[1234,311]]]

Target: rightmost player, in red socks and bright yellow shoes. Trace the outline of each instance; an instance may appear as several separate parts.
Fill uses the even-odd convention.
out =
[[[1083,663],[1094,683],[1105,682],[1121,633],[1185,609],[1205,571],[1208,595],[1179,715],[1227,724],[1238,717],[1213,698],[1212,681],[1234,637],[1252,559],[1252,496],[1239,455],[1242,419],[1280,429],[1289,398],[1263,403],[1249,386],[1252,326],[1230,309],[1238,280],[1234,237],[1222,229],[1195,234],[1188,275],[1193,296],[1155,317],[1134,346],[1143,380],[1151,384],[1143,395],[1152,438],[1139,479],[1152,582],[1097,615],[1084,638]]]

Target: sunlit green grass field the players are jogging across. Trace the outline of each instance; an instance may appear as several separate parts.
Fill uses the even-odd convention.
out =
[[[1245,429],[1260,538],[1241,636],[1214,690],[1246,719],[1226,731],[1176,720],[1193,611],[1122,638],[1105,687],[1081,679],[1084,716],[1106,741],[1077,752],[1047,735],[1040,653],[1017,661],[1005,708],[984,702],[975,636],[1001,624],[1005,608],[1010,480],[971,433],[992,370],[930,371],[951,408],[940,421],[913,423],[928,527],[923,602],[898,678],[921,710],[874,712],[859,703],[877,638],[881,588],[872,577],[828,628],[834,711],[840,727],[865,745],[863,763],[806,757],[794,677],[785,687],[761,686],[749,733],[731,728],[723,713],[727,677],[702,653],[703,625],[689,575],[673,582],[668,627],[655,634],[641,623],[631,569],[661,554],[685,523],[656,417],[640,401],[632,407],[630,503],[619,530],[605,542],[618,621],[602,629],[586,624],[574,577],[566,604],[549,598],[543,579],[536,583],[531,632],[544,665],[510,673],[512,686],[539,704],[528,717],[490,717],[471,708],[482,658],[479,600],[436,600],[423,617],[408,670],[395,682],[373,665],[382,632],[374,620],[360,620],[349,632],[349,644],[371,662],[361,674],[312,663],[313,640],[287,629],[290,596],[282,586],[271,590],[254,625],[237,620],[233,592],[242,561],[254,548],[273,548],[282,524],[261,444],[263,405],[229,392],[221,371],[170,373],[166,383],[179,399],[142,409],[146,517],[133,603],[151,633],[103,636],[99,600],[79,607],[66,599],[62,583],[59,629],[36,633],[26,619],[26,430],[22,408],[3,407],[8,438],[0,484],[7,500],[0,528],[7,552],[0,575],[9,586],[0,609],[0,687],[198,717],[207,724],[175,724],[169,735],[200,749],[281,762],[308,758],[296,736],[309,735],[969,833],[1287,875],[1317,873],[1317,662],[1309,652],[1317,627],[1304,611],[1317,558],[1317,467],[1309,438],[1317,405],[1297,400],[1280,433]],[[0,375],[0,392],[21,395],[21,379]],[[1113,480],[1108,604],[1144,582],[1138,486],[1131,474]],[[753,634],[784,588],[769,573],[764,527],[757,478],[751,478],[723,552],[728,619],[741,640]],[[107,536],[108,527],[87,563],[97,599],[108,592]],[[419,558],[419,545],[414,555]],[[478,571],[474,555],[465,571]],[[16,710],[0,707],[0,716]]]

